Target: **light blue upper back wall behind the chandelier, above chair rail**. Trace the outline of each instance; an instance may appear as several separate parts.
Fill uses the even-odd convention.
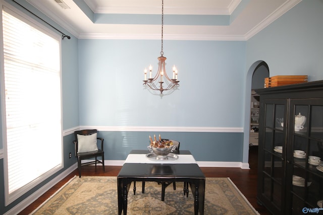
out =
[[[163,98],[142,85],[159,51],[157,40],[80,39],[80,125],[242,127],[245,42],[164,41],[180,87]]]

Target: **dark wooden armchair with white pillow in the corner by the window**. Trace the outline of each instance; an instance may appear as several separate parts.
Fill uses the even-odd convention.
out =
[[[97,137],[96,129],[86,129],[74,132],[75,140],[75,157],[77,157],[77,169],[79,177],[81,178],[81,167],[84,165],[101,163],[104,172],[104,152],[103,152],[103,138]],[[99,147],[97,144],[100,142]],[[101,157],[99,161],[97,157]],[[93,161],[82,163],[82,160],[95,158]]]

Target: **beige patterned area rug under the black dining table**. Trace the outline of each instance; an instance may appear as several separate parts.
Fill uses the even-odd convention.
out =
[[[193,195],[184,196],[183,183],[166,188],[161,201],[161,185],[146,182],[133,184],[128,193],[127,214],[194,214]],[[32,214],[118,214],[117,177],[74,177]],[[204,214],[259,214],[229,178],[206,178]]]

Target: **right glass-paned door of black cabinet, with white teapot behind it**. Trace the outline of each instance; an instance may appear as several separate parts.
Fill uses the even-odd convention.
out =
[[[323,207],[323,99],[291,100],[290,104],[288,150],[292,153],[287,175],[291,177],[286,180],[292,201],[287,208],[290,214],[304,214]]]

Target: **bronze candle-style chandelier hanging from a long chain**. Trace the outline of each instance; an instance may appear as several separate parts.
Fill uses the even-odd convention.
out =
[[[152,66],[149,66],[149,78],[147,79],[147,68],[144,70],[145,80],[143,80],[143,85],[147,85],[152,90],[159,90],[160,94],[163,94],[163,91],[171,90],[179,86],[177,79],[177,69],[175,65],[173,66],[173,77],[170,79],[166,73],[165,69],[165,60],[163,51],[163,31],[164,31],[164,0],[161,1],[161,51],[160,57],[158,59],[158,70],[156,75],[152,78]],[[165,84],[165,85],[163,85]]]

